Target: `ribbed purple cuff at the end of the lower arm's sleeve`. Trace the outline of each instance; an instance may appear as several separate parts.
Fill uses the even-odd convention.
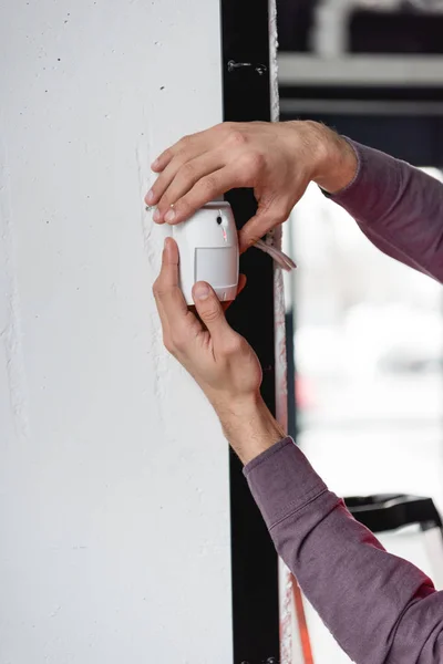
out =
[[[269,529],[327,491],[290,437],[253,459],[244,474]]]

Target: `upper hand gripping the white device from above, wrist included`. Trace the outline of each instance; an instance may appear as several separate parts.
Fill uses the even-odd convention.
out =
[[[185,136],[152,165],[146,204],[154,220],[178,224],[229,189],[253,187],[257,214],[239,235],[245,251],[286,221],[313,180],[328,191],[348,185],[357,157],[347,141],[315,122],[224,123]]]

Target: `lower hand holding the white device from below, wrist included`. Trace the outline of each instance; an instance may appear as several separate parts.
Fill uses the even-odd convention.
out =
[[[167,238],[153,292],[167,350],[199,384],[244,463],[284,437],[260,397],[261,367],[247,341],[227,323],[213,289],[194,287],[198,318],[178,287],[178,249]]]

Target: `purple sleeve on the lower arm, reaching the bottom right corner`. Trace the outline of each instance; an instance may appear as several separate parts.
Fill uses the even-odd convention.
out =
[[[443,662],[443,593],[384,551],[291,438],[250,461],[245,475],[277,551],[354,662]]]

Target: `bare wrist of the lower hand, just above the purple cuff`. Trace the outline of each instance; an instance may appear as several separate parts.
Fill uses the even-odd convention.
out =
[[[243,402],[218,404],[216,412],[229,445],[244,465],[286,436],[259,394]]]

